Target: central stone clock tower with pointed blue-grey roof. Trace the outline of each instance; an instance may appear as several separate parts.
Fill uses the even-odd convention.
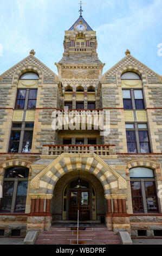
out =
[[[57,65],[59,75],[61,76],[63,93],[67,88],[71,88],[73,92],[72,108],[76,108],[76,101],[84,101],[84,107],[87,108],[87,88],[93,86],[93,92],[98,89],[99,76],[102,74],[103,64],[99,58],[96,49],[98,42],[96,40],[96,32],[88,25],[88,23],[80,15],[79,19],[65,31],[63,41],[64,53],[63,57]],[[76,88],[82,88],[84,95],[77,96]],[[64,102],[68,99],[68,95],[64,94]],[[89,100],[96,100],[96,108],[99,108],[99,101],[96,95]]]

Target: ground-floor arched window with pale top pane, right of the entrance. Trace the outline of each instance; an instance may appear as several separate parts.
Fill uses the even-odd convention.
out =
[[[151,168],[134,167],[129,170],[133,212],[158,212],[154,172]]]

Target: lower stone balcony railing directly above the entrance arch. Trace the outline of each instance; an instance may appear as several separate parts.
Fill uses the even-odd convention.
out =
[[[62,153],[87,154],[99,156],[116,155],[115,145],[43,145],[42,155],[61,155]]]

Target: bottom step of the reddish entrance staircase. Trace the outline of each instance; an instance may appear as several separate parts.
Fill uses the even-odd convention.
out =
[[[38,239],[36,245],[76,245],[76,239]],[[93,240],[84,239],[79,240],[79,245],[120,245],[120,240]]]

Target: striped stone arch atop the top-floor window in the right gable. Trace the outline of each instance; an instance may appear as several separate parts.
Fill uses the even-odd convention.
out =
[[[118,72],[116,72],[116,82],[118,86],[121,85],[121,75],[124,74],[125,72],[131,72],[131,71],[134,73],[137,73],[141,77],[142,85],[147,83],[147,76],[144,70],[139,69],[138,66],[126,65],[126,66],[122,66],[118,70]]]

